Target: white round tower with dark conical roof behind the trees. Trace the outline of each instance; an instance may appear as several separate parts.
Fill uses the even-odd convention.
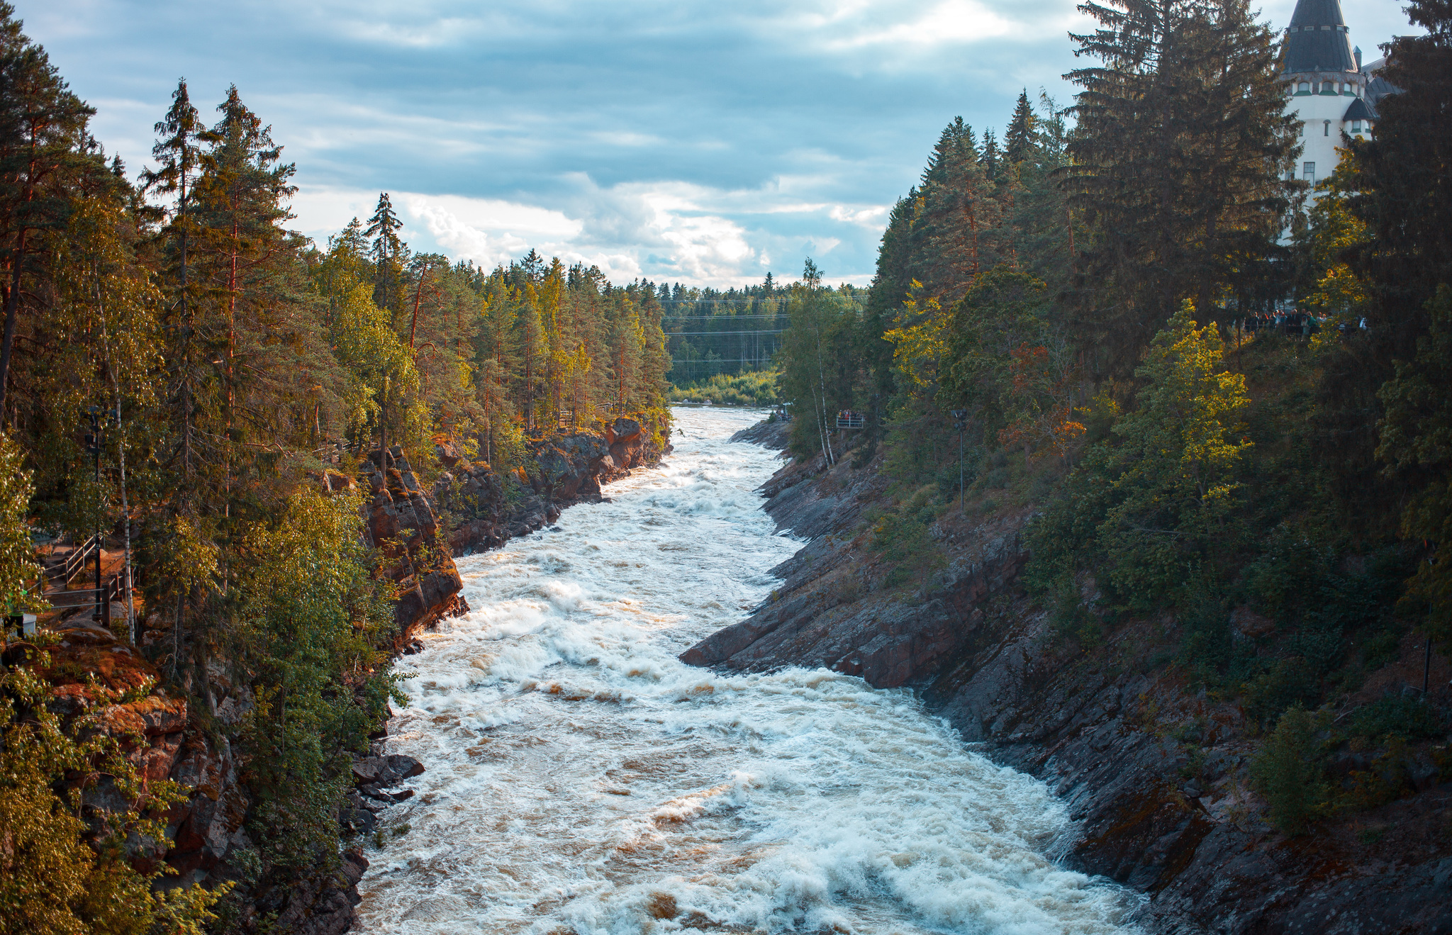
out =
[[[1342,132],[1366,139],[1376,121],[1366,96],[1372,78],[1353,49],[1340,0],[1297,0],[1285,41],[1285,112],[1301,122],[1304,152],[1292,173],[1316,183],[1331,174],[1339,161]]]

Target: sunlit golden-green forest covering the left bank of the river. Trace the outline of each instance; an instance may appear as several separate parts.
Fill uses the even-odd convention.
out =
[[[388,195],[315,245],[235,87],[208,116],[182,81],[132,184],[9,4],[0,78],[0,601],[42,614],[0,675],[0,931],[341,931],[396,607],[457,591],[418,485],[507,536],[558,433],[659,456],[656,290],[415,253]],[[96,530],[138,585],[110,634],[39,594],[36,543]]]

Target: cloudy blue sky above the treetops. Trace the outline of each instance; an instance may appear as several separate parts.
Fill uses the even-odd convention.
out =
[[[1074,0],[12,3],[132,173],[180,77],[209,121],[237,84],[319,245],[389,192],[418,251],[714,287],[806,257],[867,285],[942,128],[1070,105],[1088,25]],[[1413,32],[1398,1],[1343,10],[1368,61]]]

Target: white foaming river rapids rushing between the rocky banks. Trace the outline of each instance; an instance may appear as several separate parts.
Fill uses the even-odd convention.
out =
[[[559,526],[459,562],[473,611],[399,662],[364,932],[1115,932],[1118,890],[1045,858],[1047,788],[908,691],[677,661],[799,546],[752,492],[758,414],[678,409],[675,453]],[[404,826],[408,826],[407,830]]]

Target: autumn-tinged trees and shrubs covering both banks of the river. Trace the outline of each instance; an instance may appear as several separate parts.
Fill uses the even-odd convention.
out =
[[[209,123],[182,83],[134,186],[0,10],[0,600],[41,608],[32,531],[129,531],[151,634],[123,671],[54,634],[7,650],[0,926],[287,928],[248,894],[338,868],[348,762],[392,691],[392,608],[447,560],[431,533],[364,549],[353,475],[402,502],[409,483],[450,491],[447,462],[472,462],[457,473],[482,492],[453,502],[508,504],[552,485],[542,463],[562,428],[600,427],[592,463],[616,417],[662,446],[662,301],[700,296],[533,253],[492,271],[415,254],[386,195],[314,245],[286,229],[292,167],[235,89]],[[950,123],[890,215],[871,289],[829,289],[809,263],[799,283],[730,296],[788,324],[772,359],[772,398],[796,414],[788,481],[862,492],[777,611],[802,582],[825,582],[797,607],[812,617],[862,601],[918,613],[934,582],[971,581],[919,675],[955,684],[984,621],[1038,621],[1037,659],[1153,682],[1118,716],[1175,751],[1176,784],[1244,785],[1217,816],[1297,842],[1352,833],[1365,860],[1395,862],[1406,835],[1387,816],[1452,778],[1437,560],[1452,205],[1429,187],[1446,135],[1424,129],[1446,126],[1452,19],[1408,7],[1429,35],[1392,44],[1384,77],[1403,93],[1313,200],[1284,180],[1297,135],[1273,36],[1244,3],[1086,10],[1101,29],[1079,51],[1101,64],[1072,75],[1073,121],[1025,93],[1002,142]],[[1327,324],[1246,338],[1237,322],[1282,296]],[[725,359],[736,338],[722,340],[700,359]],[[711,379],[678,393],[767,401],[759,377]],[[836,431],[839,409],[865,428]],[[820,578],[844,549],[864,572]],[[405,559],[417,573],[389,573]],[[1426,640],[1435,691],[1403,690]],[[839,656],[823,664],[873,684],[912,674]],[[245,716],[218,695],[248,698]],[[186,736],[238,751],[248,835],[229,880],[167,873],[171,809],[206,799],[203,783],[147,774],[135,736],[97,729],[107,711],[147,730],[182,717]],[[1012,713],[955,723],[1031,745],[1041,726]],[[1215,767],[1227,742],[1240,772]],[[1446,854],[1445,807],[1430,816],[1417,846]]]

